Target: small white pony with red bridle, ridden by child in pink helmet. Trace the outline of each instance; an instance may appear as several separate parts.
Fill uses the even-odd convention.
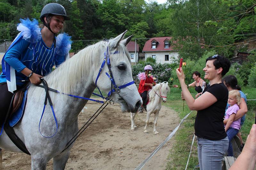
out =
[[[162,107],[161,101],[166,102],[167,100],[167,93],[170,91],[170,88],[168,86],[168,82],[162,82],[159,84],[156,84],[151,90],[149,90],[148,95],[149,95],[149,102],[147,104],[147,118],[146,118],[146,125],[144,127],[144,133],[148,133],[148,122],[149,122],[149,117],[152,113],[155,114],[154,117],[154,134],[158,134],[156,131],[156,124],[157,124],[157,118],[159,111]],[[134,117],[136,113],[131,112],[131,130],[134,131],[134,128],[137,128],[137,126],[134,124]]]

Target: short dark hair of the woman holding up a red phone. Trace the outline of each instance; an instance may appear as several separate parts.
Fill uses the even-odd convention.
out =
[[[221,55],[214,55],[214,56],[210,56],[206,59],[205,63],[208,60],[214,60],[213,61],[213,65],[215,67],[215,69],[218,68],[222,68],[222,72],[221,75],[224,76],[226,73],[228,73],[231,62],[228,60],[228,58],[221,56]]]

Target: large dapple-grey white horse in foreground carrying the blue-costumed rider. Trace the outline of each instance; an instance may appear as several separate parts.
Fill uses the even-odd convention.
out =
[[[51,74],[44,77],[48,82],[48,86],[63,93],[90,98],[96,88],[95,81],[107,47],[116,85],[119,87],[133,81],[131,60],[125,47],[132,36],[123,40],[126,32],[114,39],[100,41],[78,52]],[[109,71],[106,64],[102,69],[97,85],[100,90],[108,93],[111,90],[111,81],[105,74]],[[44,106],[45,91],[35,85],[31,85],[28,89],[28,100],[23,119],[14,126],[14,131],[31,154],[31,169],[46,169],[47,162],[52,158],[53,169],[65,169],[70,149],[74,143],[66,150],[64,148],[78,131],[78,114],[88,101],[51,91],[49,91],[49,94],[52,97],[53,108],[58,122],[58,131],[55,136],[44,138],[39,133],[38,125]],[[119,93],[113,93],[111,98],[113,100],[119,99],[117,103],[121,105],[122,111],[135,112],[142,103],[135,84],[120,88]],[[56,124],[49,104],[46,105],[40,130],[45,136],[50,136],[56,131]],[[0,148],[11,152],[21,152],[5,132],[0,137]],[[63,150],[64,152],[62,152]]]

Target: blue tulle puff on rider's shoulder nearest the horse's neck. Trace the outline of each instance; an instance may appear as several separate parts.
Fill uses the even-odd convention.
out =
[[[57,54],[66,55],[71,49],[71,43],[71,36],[66,33],[59,34],[56,38]]]

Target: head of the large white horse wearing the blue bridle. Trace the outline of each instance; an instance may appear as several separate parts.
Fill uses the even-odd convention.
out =
[[[131,60],[125,47],[132,36],[123,39],[126,32],[103,43],[93,80],[100,90],[121,105],[122,111],[136,112],[142,100],[132,78]]]

